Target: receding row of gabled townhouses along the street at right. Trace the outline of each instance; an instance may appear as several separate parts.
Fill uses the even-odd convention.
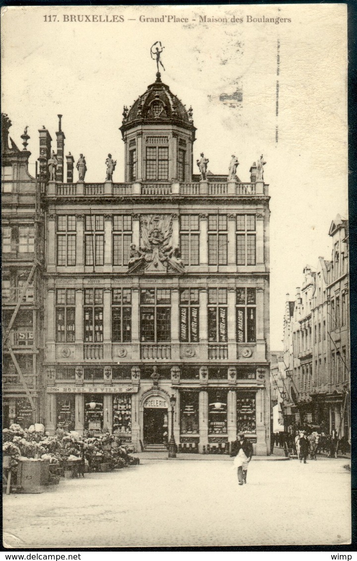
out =
[[[319,425],[350,439],[348,221],[337,215],[329,235],[332,260],[304,269],[294,301],[287,295],[284,361],[290,381],[290,426]]]

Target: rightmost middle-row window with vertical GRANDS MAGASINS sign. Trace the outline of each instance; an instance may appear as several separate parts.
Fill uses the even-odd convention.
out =
[[[236,337],[238,343],[256,341],[256,289],[237,288]]]

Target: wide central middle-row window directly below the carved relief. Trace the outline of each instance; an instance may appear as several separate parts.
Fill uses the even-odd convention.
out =
[[[171,291],[144,288],[140,291],[140,341],[171,340]]]

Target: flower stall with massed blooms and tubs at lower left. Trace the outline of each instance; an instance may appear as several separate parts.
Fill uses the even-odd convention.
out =
[[[40,427],[42,425],[39,425]],[[7,493],[41,493],[61,477],[84,477],[85,473],[105,472],[137,465],[132,447],[123,446],[120,437],[101,433],[80,436],[76,431],[58,429],[53,436],[44,430],[3,429],[3,475]]]

